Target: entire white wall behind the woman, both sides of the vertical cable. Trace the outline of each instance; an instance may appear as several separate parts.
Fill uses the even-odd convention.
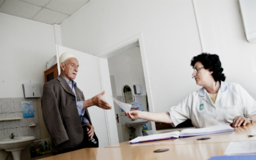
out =
[[[255,43],[243,33],[237,0],[195,0],[205,52],[219,54],[227,82],[256,97]],[[61,24],[64,46],[95,54],[142,32],[155,112],[194,90],[190,60],[202,52],[192,0],[91,0]]]

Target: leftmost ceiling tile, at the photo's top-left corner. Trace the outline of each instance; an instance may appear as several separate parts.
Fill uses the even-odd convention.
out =
[[[6,0],[0,12],[31,19],[41,8],[19,0]]]

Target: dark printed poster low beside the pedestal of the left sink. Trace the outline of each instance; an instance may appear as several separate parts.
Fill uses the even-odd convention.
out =
[[[29,150],[31,158],[49,154],[51,153],[50,141],[49,139],[35,140],[30,144]]]

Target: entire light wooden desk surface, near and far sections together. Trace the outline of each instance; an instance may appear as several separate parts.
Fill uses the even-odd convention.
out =
[[[235,132],[205,136],[136,144],[124,142],[105,148],[85,148],[41,160],[208,160],[210,157],[223,155],[231,141],[256,140],[256,137],[248,137],[248,134],[256,133],[256,124],[234,129]],[[211,137],[211,139],[196,140],[199,137]],[[161,153],[153,152],[163,148],[169,150]]]

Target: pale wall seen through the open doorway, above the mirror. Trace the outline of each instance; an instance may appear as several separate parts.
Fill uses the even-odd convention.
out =
[[[143,89],[141,95],[147,94],[139,47],[133,47],[109,58],[108,67],[109,74],[115,76],[117,96],[123,96],[121,90],[125,84],[132,90],[134,84],[140,84]]]

